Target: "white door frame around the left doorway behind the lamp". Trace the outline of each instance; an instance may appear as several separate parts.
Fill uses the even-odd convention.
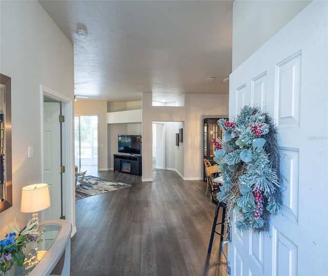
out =
[[[65,116],[65,123],[61,128],[62,140],[62,162],[65,165],[63,174],[63,213],[66,220],[70,221],[73,229],[72,235],[76,232],[75,225],[75,175],[74,175],[74,128],[73,128],[73,100],[63,94],[60,94],[46,86],[40,85],[40,118],[41,118],[41,178],[44,182],[44,96],[50,97],[61,102],[61,114]]]

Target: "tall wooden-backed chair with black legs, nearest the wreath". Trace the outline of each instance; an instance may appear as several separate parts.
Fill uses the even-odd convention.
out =
[[[224,237],[224,222],[226,221],[226,209],[227,209],[227,204],[219,201],[216,198],[216,194],[219,192],[219,185],[220,183],[215,183],[213,180],[215,177],[217,177],[218,175],[218,171],[219,169],[216,168],[216,166],[211,166],[211,167],[207,167],[205,169],[206,171],[206,176],[207,179],[209,181],[209,188],[210,188],[210,192],[211,192],[211,199],[212,199],[212,203],[214,203],[216,205],[216,211],[215,211],[215,216],[213,219],[213,225],[212,225],[212,232],[211,232],[211,238],[210,238],[210,243],[209,243],[209,248],[208,248],[208,253],[211,253],[212,250],[212,244],[213,244],[213,239],[214,239],[214,234],[216,233],[217,235],[220,236],[220,241],[223,241],[223,237]],[[221,221],[218,223],[217,219],[220,213],[220,209],[221,211]],[[221,225],[220,227],[220,231],[216,230],[216,226],[217,225]]]

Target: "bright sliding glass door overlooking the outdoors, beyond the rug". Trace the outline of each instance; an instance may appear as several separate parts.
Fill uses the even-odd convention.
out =
[[[98,171],[98,116],[74,116],[74,161],[78,168]]]

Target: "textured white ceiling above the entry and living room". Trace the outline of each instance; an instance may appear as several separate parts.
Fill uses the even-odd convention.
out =
[[[39,3],[74,45],[75,95],[134,101],[152,92],[172,102],[229,93],[232,0]]]

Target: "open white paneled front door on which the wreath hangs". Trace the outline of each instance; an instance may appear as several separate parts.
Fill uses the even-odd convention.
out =
[[[268,235],[233,218],[233,275],[328,275],[327,6],[312,2],[230,76],[231,116],[251,104],[275,119],[285,178]]]

